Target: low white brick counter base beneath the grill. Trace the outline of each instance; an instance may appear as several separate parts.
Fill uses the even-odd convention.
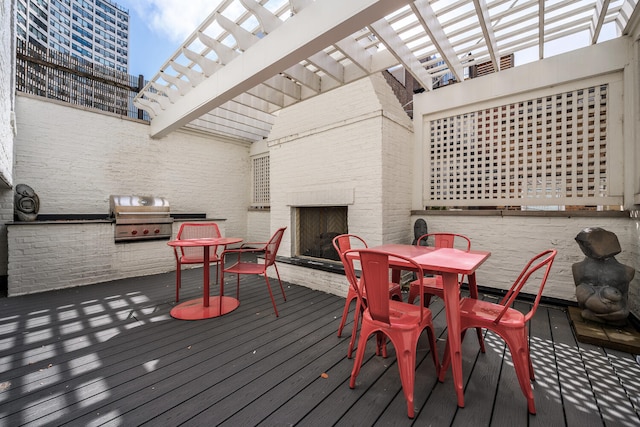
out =
[[[175,238],[180,224],[173,224]],[[225,222],[218,222],[227,235]],[[115,243],[111,222],[14,223],[8,227],[9,296],[175,271],[167,240]],[[200,268],[188,265],[188,268]]]

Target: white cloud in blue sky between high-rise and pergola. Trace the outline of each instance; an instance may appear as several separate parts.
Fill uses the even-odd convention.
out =
[[[222,0],[138,0],[131,7],[159,36],[182,43]]]

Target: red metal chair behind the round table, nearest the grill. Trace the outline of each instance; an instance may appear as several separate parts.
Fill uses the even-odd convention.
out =
[[[221,237],[218,224],[215,222],[185,222],[180,225],[177,240],[184,239],[201,239]],[[197,247],[175,247],[173,253],[176,257],[176,302],[180,301],[180,288],[182,287],[182,264],[202,264],[204,263],[204,248]],[[216,281],[218,280],[218,264],[220,257],[218,256],[218,247],[211,246],[209,248],[209,263],[216,264]]]

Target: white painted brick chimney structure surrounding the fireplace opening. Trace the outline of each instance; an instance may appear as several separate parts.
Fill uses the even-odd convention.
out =
[[[322,205],[340,205],[351,191],[349,232],[370,244],[403,232],[385,228],[384,219],[409,220],[412,140],[411,121],[381,75],[281,111],[267,143],[271,229],[289,227],[279,254],[294,252],[292,199],[299,206],[319,199]]]

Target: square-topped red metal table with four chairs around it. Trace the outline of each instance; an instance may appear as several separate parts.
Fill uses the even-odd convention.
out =
[[[434,248],[430,246],[413,246],[387,244],[371,249],[398,254],[416,261],[425,272],[442,276],[444,286],[444,306],[447,317],[447,342],[451,353],[451,371],[453,384],[458,396],[458,406],[464,407],[464,390],[462,387],[462,343],[460,338],[460,297],[458,274],[469,278],[469,288],[477,289],[476,270],[484,263],[491,252],[463,251],[453,248]],[[406,261],[400,258],[389,258],[393,268],[393,282],[399,283],[400,271],[411,270]],[[422,302],[421,302],[422,303]],[[444,380],[444,371],[440,371],[440,381]]]

